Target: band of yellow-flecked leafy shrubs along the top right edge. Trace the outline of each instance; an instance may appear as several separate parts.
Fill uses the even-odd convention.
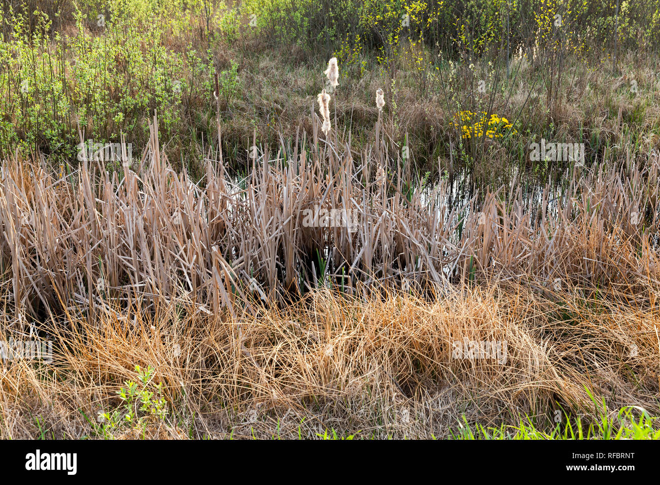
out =
[[[346,42],[350,32],[351,42],[381,49],[381,61],[403,38],[477,55],[507,41],[512,52],[534,44],[585,52],[611,45],[615,31],[620,45],[657,45],[660,29],[657,0],[620,1],[618,12],[616,0],[244,0],[240,9],[254,14],[256,26],[273,40],[318,48]]]

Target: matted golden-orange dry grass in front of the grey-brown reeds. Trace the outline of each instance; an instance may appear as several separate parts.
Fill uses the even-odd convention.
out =
[[[463,415],[481,424],[515,424],[520,414],[552,422],[559,406],[588,415],[584,386],[613,412],[636,404],[657,414],[657,308],[634,311],[619,298],[544,298],[516,285],[433,300],[315,290],[256,316],[246,307],[236,317],[195,313],[185,298],[155,312],[136,302],[93,321],[66,315],[42,326],[57,349],[51,366],[3,369],[0,437],[44,429],[47,437],[94,436],[84,415],[93,422],[99,410],[117,408],[115,393],[136,379],[136,364],[154,368],[170,409],[147,437],[315,437],[330,429],[446,437]],[[3,327],[16,331],[9,315]],[[463,338],[506,340],[506,363],[452,358],[452,342]]]

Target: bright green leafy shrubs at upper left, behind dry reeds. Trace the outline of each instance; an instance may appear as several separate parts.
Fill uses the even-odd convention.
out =
[[[49,38],[52,21],[45,16],[32,32],[25,13],[8,19],[13,36],[0,41],[0,63],[9,68],[0,71],[1,153],[36,144],[73,154],[77,136],[71,127],[77,123],[99,141],[116,140],[120,133],[137,141],[149,133],[143,113],[154,109],[163,135],[178,129],[184,66],[191,69],[187,64],[197,58],[159,42],[164,36],[159,22],[143,22],[137,30],[115,11],[96,12],[75,12],[76,28],[65,38],[59,32]],[[98,15],[104,15],[105,35],[90,36]]]

